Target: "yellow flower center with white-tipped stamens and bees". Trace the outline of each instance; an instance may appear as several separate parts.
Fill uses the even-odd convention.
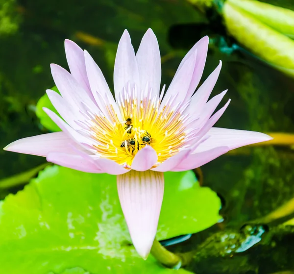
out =
[[[107,115],[92,117],[89,132],[96,141],[93,148],[99,157],[131,166],[136,153],[151,146],[159,164],[184,148],[187,117],[182,116],[182,111],[171,100],[160,106],[158,98],[141,98],[138,103],[136,96],[129,98],[125,94],[124,99],[118,100],[117,111],[122,119],[113,105],[107,107]]]

